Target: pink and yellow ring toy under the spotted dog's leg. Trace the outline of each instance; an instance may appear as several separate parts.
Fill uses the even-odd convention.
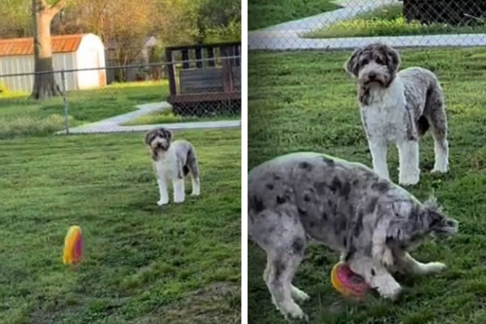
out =
[[[351,271],[343,262],[334,265],[331,271],[331,283],[333,287],[346,297],[363,297],[370,287],[363,277]]]

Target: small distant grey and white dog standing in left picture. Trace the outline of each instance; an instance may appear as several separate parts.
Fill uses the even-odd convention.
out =
[[[172,142],[172,132],[166,128],[148,131],[144,142],[152,151],[160,193],[160,199],[157,201],[159,206],[169,203],[168,181],[172,181],[173,184],[174,202],[184,201],[184,178],[188,174],[192,178],[192,195],[199,196],[199,167],[196,150],[191,143],[184,140]]]

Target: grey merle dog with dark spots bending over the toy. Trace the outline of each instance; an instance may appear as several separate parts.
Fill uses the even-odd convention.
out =
[[[364,165],[323,154],[283,155],[248,174],[248,235],[266,251],[263,279],[285,316],[306,318],[295,302],[309,296],[292,278],[310,241],[340,252],[381,296],[396,299],[401,287],[391,273],[445,267],[408,251],[430,235],[455,234],[457,224]]]

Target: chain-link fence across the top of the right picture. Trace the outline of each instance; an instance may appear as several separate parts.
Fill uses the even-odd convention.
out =
[[[287,5],[287,7],[286,7]],[[249,49],[349,49],[486,45],[484,0],[249,2]]]

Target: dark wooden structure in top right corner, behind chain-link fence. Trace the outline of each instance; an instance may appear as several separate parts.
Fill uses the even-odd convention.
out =
[[[422,24],[440,22],[453,26],[483,23],[486,0],[401,0],[407,20]]]

